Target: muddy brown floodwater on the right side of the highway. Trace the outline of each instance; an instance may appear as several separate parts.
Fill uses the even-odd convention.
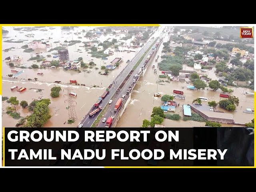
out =
[[[164,42],[167,41],[167,38],[164,39]],[[168,82],[160,82],[157,85],[157,80],[168,80],[167,78],[158,78],[158,75],[161,74],[161,71],[157,71],[157,74],[154,73],[154,68],[152,65],[157,66],[155,59],[157,55],[161,56],[161,51],[163,48],[163,44],[161,44],[158,53],[155,55],[155,58],[152,58],[151,62],[148,64],[148,68],[143,77],[140,78],[134,90],[132,91],[131,101],[128,104],[124,114],[120,118],[117,127],[139,127],[142,126],[142,121],[144,119],[150,120],[150,115],[152,114],[152,109],[154,106],[161,106],[161,98],[154,98],[154,93],[160,92],[162,95],[164,94],[172,94],[173,90],[181,90],[184,92],[186,96],[186,100],[182,99],[174,99],[174,101],[178,102],[180,106],[176,107],[175,113],[180,114],[183,118],[183,108],[182,104],[191,104],[192,101],[198,97],[207,97],[208,101],[215,100],[218,102],[221,98],[219,95],[222,93],[221,90],[212,91],[212,90],[190,90],[186,88],[188,85],[186,82],[178,82],[178,81],[170,81]],[[189,67],[184,65],[183,69],[185,70],[194,70],[193,67]],[[207,70],[206,74],[212,80],[218,80],[218,76],[214,73],[214,69]],[[239,88],[239,87],[231,87],[228,88],[234,89],[234,92],[231,93],[231,96],[236,96],[240,100],[239,106],[236,108],[235,112],[228,112],[222,108],[217,107],[218,110],[224,111],[225,113],[232,113],[233,118],[236,123],[244,124],[250,122],[254,118],[254,114],[244,113],[243,111],[246,108],[254,109],[254,96],[248,96],[243,93],[245,92],[253,92],[253,90],[247,88]],[[207,101],[207,102],[208,102]],[[202,104],[207,104],[206,101],[202,101]],[[192,112],[194,112],[192,110]],[[173,114],[173,112],[168,112]],[[166,127],[192,127],[192,126],[204,126],[205,122],[196,122],[196,121],[183,121],[182,118],[179,121],[164,119],[164,124]],[[222,126],[240,126],[240,125],[230,125],[230,124],[222,124]]]

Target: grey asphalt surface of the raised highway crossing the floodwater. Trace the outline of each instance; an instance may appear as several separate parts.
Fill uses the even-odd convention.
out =
[[[118,90],[119,86],[122,84],[122,82],[125,80],[125,78],[128,76],[128,74],[130,73],[130,71],[132,70],[132,68],[134,68],[134,66],[136,65],[136,63],[138,62],[138,60],[140,60],[140,58],[142,57],[142,55],[146,52],[146,50],[148,50],[148,48],[152,45],[152,43],[154,42],[154,40],[160,36],[161,33],[161,29],[159,29],[158,31],[156,31],[152,37],[154,37],[152,39],[152,37],[150,38],[150,40],[146,43],[146,45],[144,45],[144,47],[138,52],[138,54],[132,58],[132,60],[127,64],[127,66],[122,70],[122,72],[117,76],[117,78],[113,81],[113,84],[109,90],[109,93],[106,95],[106,97],[104,99],[102,99],[102,102],[100,102],[100,106],[102,106],[103,108],[108,104],[109,100],[112,98],[112,96],[114,96],[114,94],[116,93],[116,90]],[[148,56],[148,54],[150,54],[150,51],[146,54],[146,56],[143,58],[142,62],[139,64],[139,66],[136,68],[136,70],[134,70],[134,73],[131,76],[134,76],[134,74],[138,73],[139,68],[142,66],[142,64],[144,63],[144,61],[146,60],[146,57]],[[133,78],[130,78],[127,83],[124,85],[124,87],[122,88],[122,90],[120,90],[120,94],[126,94],[126,91],[128,89],[128,87],[132,84],[132,80]],[[102,94],[104,93],[104,91],[102,91]],[[108,109],[108,111],[106,112],[106,115],[102,118],[108,118],[112,115],[114,115],[114,106],[118,100],[119,95],[116,95],[112,102],[112,104],[110,105],[110,108]],[[121,96],[122,96],[121,94]],[[100,97],[101,95],[99,95],[98,97]],[[126,95],[127,96],[127,95]],[[125,98],[124,98],[125,99]],[[97,101],[97,98],[95,98],[95,102]],[[90,112],[92,112],[90,110]],[[89,113],[90,113],[89,112]],[[96,120],[96,118],[98,117],[98,115],[100,114],[100,112],[96,113],[93,117],[89,116],[89,113],[87,113],[84,118],[81,120],[80,124],[83,124],[82,127],[91,127],[92,124],[94,123],[94,121]],[[102,120],[101,120],[102,123]],[[104,124],[99,124],[98,127],[104,127]]]

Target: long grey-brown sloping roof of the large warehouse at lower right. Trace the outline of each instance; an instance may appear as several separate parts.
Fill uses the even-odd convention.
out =
[[[194,108],[196,108],[197,110],[199,110],[200,112],[204,113],[206,116],[211,117],[211,118],[234,120],[232,114],[230,114],[230,113],[210,111],[210,106],[196,105],[196,104],[190,104],[190,106],[193,106]]]

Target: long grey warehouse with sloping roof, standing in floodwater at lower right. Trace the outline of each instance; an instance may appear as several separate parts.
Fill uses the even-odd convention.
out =
[[[234,118],[230,113],[210,110],[210,106],[190,104],[190,108],[208,121],[234,124]]]

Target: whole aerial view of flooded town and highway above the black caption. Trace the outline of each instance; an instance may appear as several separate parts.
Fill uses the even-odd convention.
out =
[[[254,124],[254,39],[236,26],[5,26],[4,127]]]

